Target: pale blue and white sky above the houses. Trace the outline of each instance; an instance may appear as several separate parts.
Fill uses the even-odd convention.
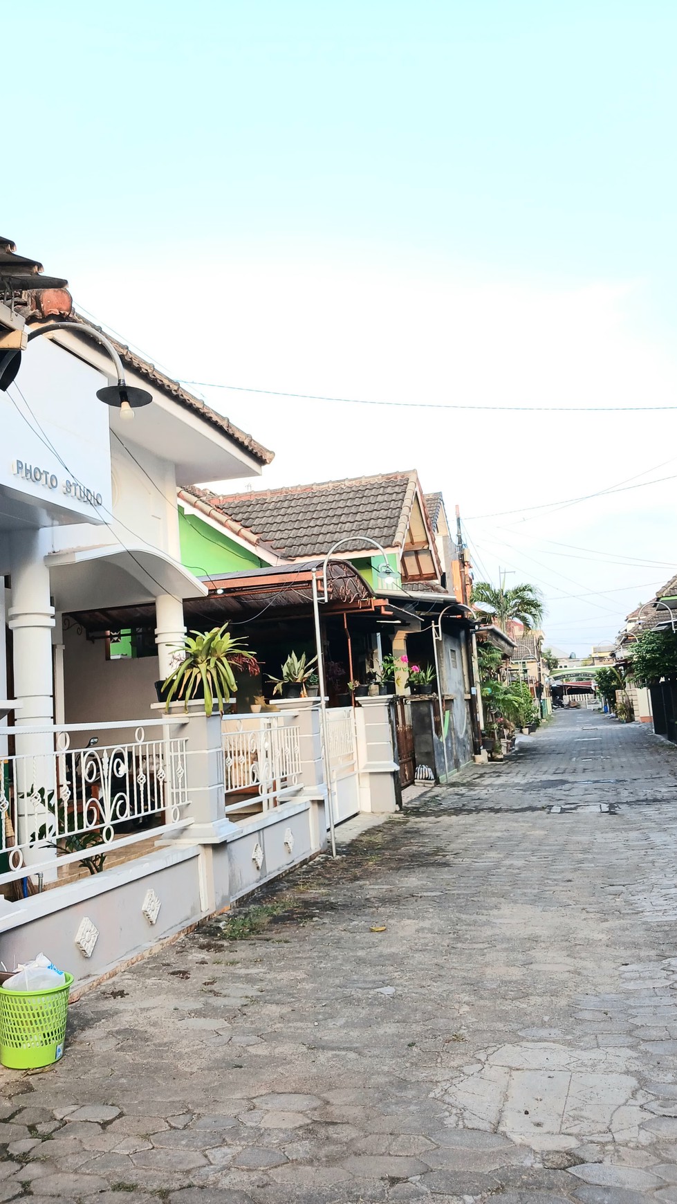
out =
[[[254,488],[416,468],[563,653],[673,574],[671,0],[34,0],[2,29],[2,234],[275,452]]]

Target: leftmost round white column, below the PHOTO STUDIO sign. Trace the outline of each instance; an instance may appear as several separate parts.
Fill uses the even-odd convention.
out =
[[[54,607],[49,597],[49,569],[44,563],[41,532],[13,531],[10,536],[12,606],[8,619],[13,633],[17,727],[53,724],[52,628]],[[37,802],[55,791],[54,736],[52,731],[16,737],[18,840],[25,845],[34,832],[49,821]],[[54,795],[52,793],[52,797]],[[24,851],[26,864],[49,858],[46,849]]]

